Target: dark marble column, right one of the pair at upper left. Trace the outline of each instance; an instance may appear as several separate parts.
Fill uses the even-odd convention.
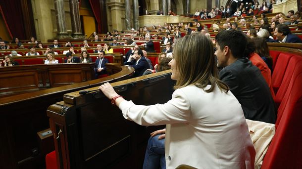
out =
[[[71,15],[72,37],[75,39],[83,39],[85,37],[82,34],[78,0],[69,0],[69,8]]]

